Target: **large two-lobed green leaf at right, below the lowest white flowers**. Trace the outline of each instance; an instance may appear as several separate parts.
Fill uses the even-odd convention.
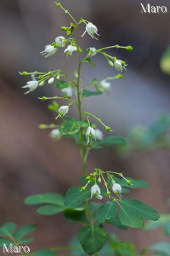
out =
[[[144,220],[158,220],[160,215],[152,207],[138,200],[122,199],[120,203],[120,221],[125,226],[142,228]]]

